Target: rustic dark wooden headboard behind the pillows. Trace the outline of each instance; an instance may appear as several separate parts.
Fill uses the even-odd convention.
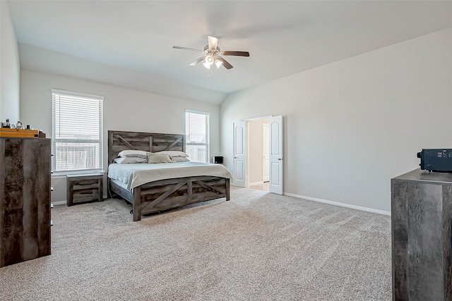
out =
[[[108,164],[124,149],[139,149],[146,152],[176,150],[185,152],[185,135],[108,131]]]

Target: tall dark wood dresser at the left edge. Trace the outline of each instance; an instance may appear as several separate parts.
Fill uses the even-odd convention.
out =
[[[50,254],[51,140],[0,138],[0,267]]]

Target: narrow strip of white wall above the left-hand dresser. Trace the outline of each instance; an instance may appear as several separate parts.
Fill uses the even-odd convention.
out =
[[[16,34],[9,14],[8,1],[0,1],[0,121],[20,120],[20,63]]]

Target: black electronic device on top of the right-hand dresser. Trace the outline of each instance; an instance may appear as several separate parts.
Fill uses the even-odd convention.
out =
[[[422,149],[417,158],[422,170],[452,173],[452,149]]]

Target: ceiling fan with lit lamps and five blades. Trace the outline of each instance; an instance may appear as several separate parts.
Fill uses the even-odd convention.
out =
[[[208,69],[210,69],[210,66],[212,66],[213,64],[215,64],[217,68],[220,68],[220,66],[225,66],[226,69],[232,68],[232,65],[221,56],[249,56],[248,51],[220,50],[220,47],[217,46],[217,43],[218,39],[216,37],[209,36],[208,45],[206,45],[203,50],[179,46],[173,46],[172,48],[203,52],[203,56],[201,56],[199,59],[196,59],[196,61],[191,63],[190,66],[195,66],[196,64],[201,63],[201,61],[204,61],[203,65]]]

